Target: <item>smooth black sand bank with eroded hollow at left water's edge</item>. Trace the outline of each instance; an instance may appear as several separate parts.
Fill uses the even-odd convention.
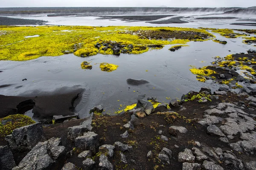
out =
[[[31,109],[34,117],[52,119],[54,115],[72,115],[84,89],[48,96],[22,97],[0,95],[0,118],[23,114]]]

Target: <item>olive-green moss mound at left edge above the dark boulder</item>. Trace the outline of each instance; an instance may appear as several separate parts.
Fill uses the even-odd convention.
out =
[[[3,122],[6,122],[6,124],[3,125]],[[0,136],[5,137],[12,134],[12,131],[17,128],[32,125],[34,123],[35,121],[33,121],[29,116],[22,114],[6,116],[5,118],[0,119]]]

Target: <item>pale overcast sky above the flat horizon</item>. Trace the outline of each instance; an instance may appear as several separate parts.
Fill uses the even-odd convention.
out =
[[[256,0],[0,0],[0,7],[250,7]]]

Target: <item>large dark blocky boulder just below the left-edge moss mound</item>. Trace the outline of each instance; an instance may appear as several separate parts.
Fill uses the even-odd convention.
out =
[[[5,139],[12,151],[25,152],[31,150],[38,142],[44,141],[45,138],[41,123],[35,123],[13,130],[12,134]]]

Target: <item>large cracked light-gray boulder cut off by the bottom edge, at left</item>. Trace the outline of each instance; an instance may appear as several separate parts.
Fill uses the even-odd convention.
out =
[[[61,139],[51,138],[39,142],[12,170],[50,170],[52,165],[64,156],[65,147],[60,146]]]

